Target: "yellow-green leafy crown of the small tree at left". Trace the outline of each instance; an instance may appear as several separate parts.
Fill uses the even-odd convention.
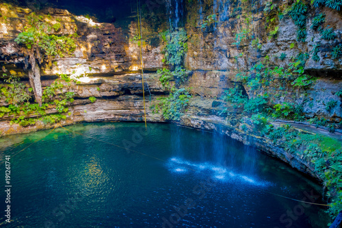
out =
[[[60,23],[54,24],[52,27],[48,23],[42,20],[41,16],[37,16],[35,13],[31,13],[27,16],[29,26],[24,27],[24,31],[18,34],[15,39],[16,42],[23,43],[27,49],[32,47],[38,47],[42,49],[47,55],[55,56],[59,55],[61,58],[64,54],[71,54],[75,51],[75,37],[77,34],[68,36],[56,36],[51,34],[52,29],[57,30],[60,28]]]

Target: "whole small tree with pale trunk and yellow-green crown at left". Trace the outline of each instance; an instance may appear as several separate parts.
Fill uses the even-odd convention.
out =
[[[24,27],[24,31],[18,34],[15,39],[18,44],[26,45],[25,68],[29,69],[29,84],[34,89],[36,102],[42,105],[42,84],[40,82],[40,68],[44,58],[48,61],[51,57],[64,57],[65,54],[71,54],[75,51],[75,37],[77,34],[57,36],[54,31],[60,30],[61,24],[49,23],[43,20],[43,16],[31,13],[27,16],[28,25]]]

